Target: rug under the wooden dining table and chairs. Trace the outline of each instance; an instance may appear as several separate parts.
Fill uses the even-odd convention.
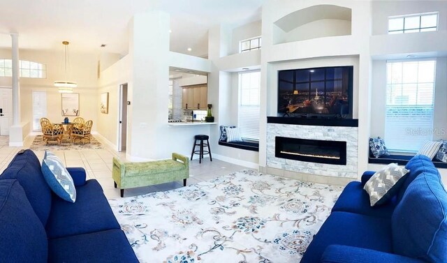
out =
[[[45,145],[45,142],[43,142],[42,135],[37,135],[34,138],[33,143],[31,146],[29,146],[29,149],[34,151],[56,151],[56,150],[84,150],[84,149],[105,149],[103,144],[101,142],[98,142],[98,140],[95,139],[94,136],[91,136],[91,142],[86,142],[85,144],[82,144],[82,142],[76,141],[76,143],[71,142],[68,137],[64,137],[61,144],[57,144],[57,142],[50,141],[48,144]]]

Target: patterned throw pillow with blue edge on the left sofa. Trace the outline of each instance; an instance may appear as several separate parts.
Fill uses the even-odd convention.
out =
[[[51,190],[63,200],[74,203],[76,188],[70,173],[57,156],[47,156],[42,160],[42,174]]]

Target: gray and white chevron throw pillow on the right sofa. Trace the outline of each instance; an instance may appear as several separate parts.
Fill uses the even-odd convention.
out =
[[[405,167],[390,163],[371,176],[363,188],[369,195],[371,206],[385,204],[393,198],[404,183],[404,175],[408,172],[410,170],[406,170]]]

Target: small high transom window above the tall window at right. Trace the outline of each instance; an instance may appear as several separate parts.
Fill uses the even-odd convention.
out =
[[[388,19],[388,33],[413,33],[438,30],[438,13],[404,15]]]

